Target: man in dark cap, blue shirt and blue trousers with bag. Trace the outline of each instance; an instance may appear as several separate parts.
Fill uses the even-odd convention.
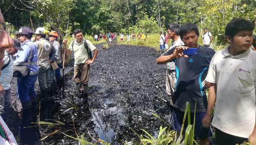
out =
[[[31,122],[37,122],[37,100],[34,91],[35,81],[38,77],[38,51],[30,40],[33,34],[29,27],[21,27],[17,37],[21,42],[23,51],[18,51],[14,61],[14,72],[18,75],[18,94],[23,108],[23,119],[20,126],[20,141],[22,145],[32,145],[41,138],[38,127]],[[18,73],[17,73],[18,74]],[[14,74],[15,76],[15,74]]]

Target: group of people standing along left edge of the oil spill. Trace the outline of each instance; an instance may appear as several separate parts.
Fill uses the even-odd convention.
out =
[[[22,145],[41,145],[41,134],[38,122],[52,119],[55,109],[57,84],[62,83],[60,67],[62,65],[60,51],[70,54],[74,51],[74,82],[80,92],[79,97],[84,100],[88,97],[88,82],[90,64],[92,64],[98,50],[89,41],[83,38],[80,29],[74,31],[75,40],[70,42],[63,40],[61,47],[59,34],[56,31],[47,31],[39,27],[35,32],[29,27],[21,27],[15,37],[11,39],[5,32],[4,18],[0,13],[0,130],[1,142],[17,144],[13,134],[4,123],[8,119],[11,109],[11,79],[17,77],[17,98],[21,101],[21,124],[19,125],[19,137]],[[34,37],[35,36],[35,37]],[[48,37],[47,37],[48,36]],[[35,92],[35,83],[38,80],[40,95]],[[41,109],[38,106],[40,103]],[[4,120],[2,120],[2,118]],[[3,128],[4,127],[4,128]]]

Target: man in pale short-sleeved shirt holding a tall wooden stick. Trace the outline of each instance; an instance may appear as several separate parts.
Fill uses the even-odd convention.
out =
[[[73,40],[67,50],[69,55],[74,51],[75,64],[74,64],[74,82],[76,83],[79,91],[83,92],[83,98],[88,97],[88,82],[90,64],[94,62],[98,55],[98,49],[89,41],[83,38],[83,32],[80,29],[74,31],[75,40]],[[64,39],[63,43],[67,43]],[[94,55],[91,56],[91,51]]]

